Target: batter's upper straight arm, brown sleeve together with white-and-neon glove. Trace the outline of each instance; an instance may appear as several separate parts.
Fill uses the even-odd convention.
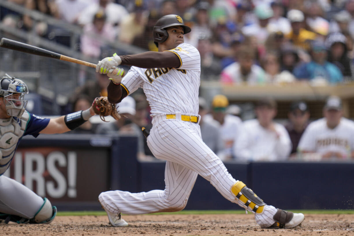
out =
[[[136,66],[140,68],[179,68],[181,66],[180,58],[173,52],[143,52],[135,55],[106,57],[99,61],[96,66],[96,72],[107,74],[112,72],[119,65]]]

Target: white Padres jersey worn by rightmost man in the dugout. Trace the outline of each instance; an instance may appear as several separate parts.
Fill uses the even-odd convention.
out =
[[[330,129],[325,118],[316,120],[304,131],[298,150],[321,154],[329,151],[340,152],[349,159],[350,152],[354,150],[354,122],[341,118],[337,127]]]

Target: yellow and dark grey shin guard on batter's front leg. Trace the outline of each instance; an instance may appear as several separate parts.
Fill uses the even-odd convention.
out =
[[[249,189],[242,181],[236,182],[231,187],[231,192],[238,198],[238,204],[247,210],[255,213],[262,213],[266,205],[256,193]]]

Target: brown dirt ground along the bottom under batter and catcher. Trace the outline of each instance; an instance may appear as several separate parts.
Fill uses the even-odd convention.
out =
[[[106,216],[59,216],[48,225],[1,224],[0,235],[343,235],[354,236],[354,215],[306,214],[301,227],[267,230],[253,214],[124,215],[128,227],[112,227]]]

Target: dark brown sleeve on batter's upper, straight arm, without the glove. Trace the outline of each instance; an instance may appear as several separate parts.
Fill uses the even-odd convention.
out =
[[[143,52],[119,57],[122,59],[121,65],[140,68],[179,68],[182,65],[179,56],[170,51]]]

